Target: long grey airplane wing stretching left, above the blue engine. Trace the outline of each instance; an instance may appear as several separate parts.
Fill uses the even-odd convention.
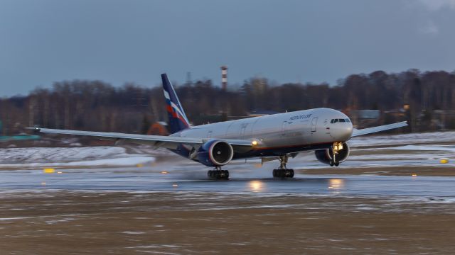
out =
[[[203,143],[210,140],[209,138],[195,138],[195,137],[173,137],[163,135],[135,135],[124,134],[117,132],[91,132],[91,131],[78,131],[78,130],[56,130],[49,128],[27,128],[36,132],[60,134],[60,135],[85,135],[97,137],[101,140],[114,140],[117,142],[133,142],[140,145],[153,145],[154,147],[164,147],[168,149],[176,149],[178,145],[191,145],[199,147]],[[215,139],[215,138],[214,138]],[[234,139],[221,139],[230,143],[232,147],[242,147],[248,149],[252,147],[250,140],[234,140]]]

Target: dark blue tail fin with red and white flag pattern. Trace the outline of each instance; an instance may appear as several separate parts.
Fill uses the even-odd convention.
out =
[[[178,101],[176,91],[173,90],[167,74],[161,74],[161,80],[163,81],[164,98],[166,99],[166,111],[168,112],[171,133],[190,128],[188,118],[186,118],[185,111],[183,111],[183,107]]]

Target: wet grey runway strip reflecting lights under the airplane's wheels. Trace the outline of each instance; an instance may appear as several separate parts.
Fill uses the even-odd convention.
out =
[[[0,172],[0,188],[21,190],[63,189],[68,191],[200,191],[225,193],[300,193],[346,196],[440,197],[455,200],[455,177],[305,175],[273,179],[267,170],[230,170],[229,181],[212,181],[206,170],[156,167],[116,169],[62,169],[53,174],[42,170]],[[259,176],[259,177],[255,177]]]

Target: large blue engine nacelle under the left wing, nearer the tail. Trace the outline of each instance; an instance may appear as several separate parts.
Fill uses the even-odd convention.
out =
[[[210,140],[198,149],[198,160],[205,166],[224,166],[234,157],[234,149],[223,140]]]

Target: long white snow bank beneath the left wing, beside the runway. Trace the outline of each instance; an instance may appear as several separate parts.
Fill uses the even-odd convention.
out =
[[[0,149],[0,167],[133,166],[154,159],[146,154],[127,154],[122,147]]]

